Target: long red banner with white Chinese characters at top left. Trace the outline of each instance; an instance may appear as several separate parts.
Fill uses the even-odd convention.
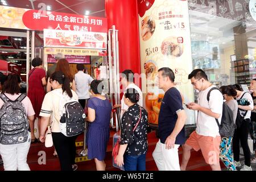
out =
[[[108,32],[106,18],[0,6],[0,27]]]

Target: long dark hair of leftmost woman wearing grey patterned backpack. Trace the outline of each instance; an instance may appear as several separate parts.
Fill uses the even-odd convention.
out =
[[[20,93],[20,84],[21,80],[18,74],[9,74],[6,78],[5,83],[3,84],[2,93],[10,93],[12,95]]]

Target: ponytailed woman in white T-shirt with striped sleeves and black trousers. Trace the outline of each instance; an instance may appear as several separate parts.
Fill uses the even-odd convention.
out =
[[[60,160],[61,171],[75,171],[77,165],[76,158],[76,138],[77,135],[66,137],[60,132],[60,100],[61,97],[73,98],[78,101],[76,92],[71,90],[70,81],[63,72],[54,72],[49,77],[52,91],[48,92],[44,97],[42,109],[40,111],[41,129],[40,142],[45,141],[46,129],[51,125],[53,145],[57,151]],[[52,121],[50,123],[50,118]]]

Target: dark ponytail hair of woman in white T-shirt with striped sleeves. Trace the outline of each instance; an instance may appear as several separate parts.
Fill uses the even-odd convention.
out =
[[[59,82],[59,84],[62,84],[63,93],[66,91],[70,98],[73,97],[73,94],[70,88],[69,78],[66,77],[63,72],[59,72],[59,71],[54,72],[49,78],[52,81],[56,80],[57,82]]]

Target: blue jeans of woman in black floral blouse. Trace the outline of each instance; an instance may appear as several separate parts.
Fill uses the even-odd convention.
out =
[[[143,155],[125,155],[125,171],[146,171],[146,154]]]

